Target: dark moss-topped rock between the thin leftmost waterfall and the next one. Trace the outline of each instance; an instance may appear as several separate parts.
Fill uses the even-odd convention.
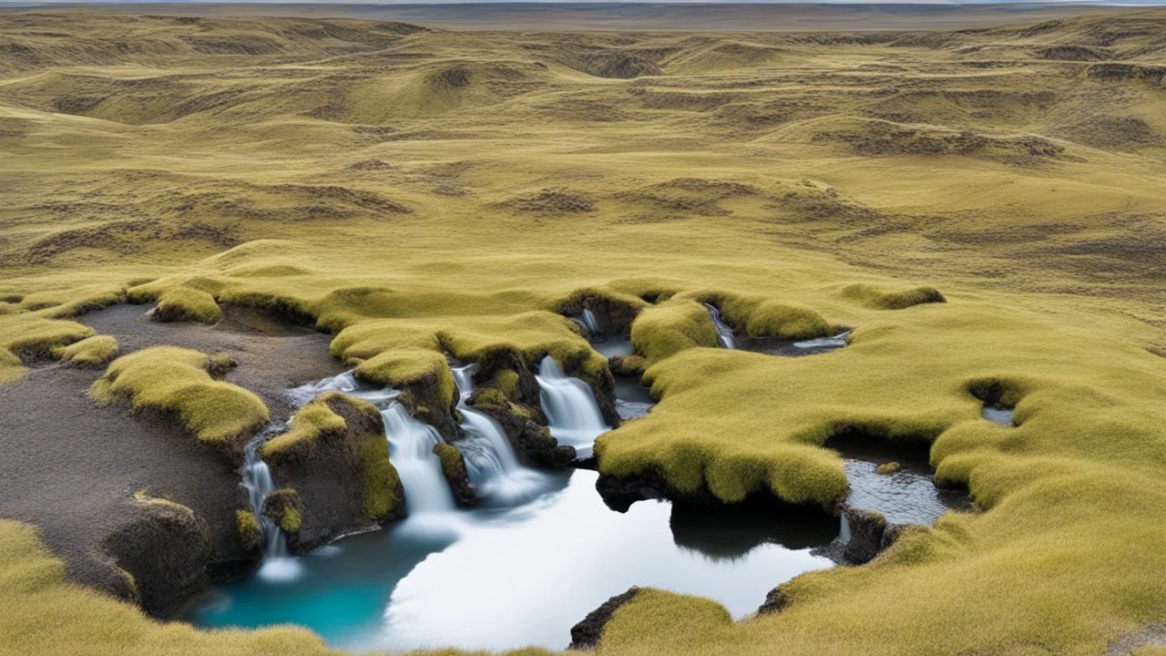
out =
[[[296,490],[298,530],[288,536],[294,552],[405,516],[405,489],[388,460],[384,420],[367,402],[321,395],[259,454],[281,486]]]

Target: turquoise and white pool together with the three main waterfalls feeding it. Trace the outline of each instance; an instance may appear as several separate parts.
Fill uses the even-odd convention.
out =
[[[220,584],[188,619],[208,628],[296,623],[354,650],[562,649],[575,622],[633,585],[708,596],[740,619],[775,585],[831,566],[813,549],[836,537],[833,518],[763,514],[726,524],[723,514],[655,501],[619,514],[596,493],[595,472],[522,467],[497,424],[466,406],[472,369],[455,377],[466,433],[455,446],[482,505],[455,508],[433,453],[438,434],[409,417],[395,391],[351,375],[298,388],[300,403],[339,390],[381,410],[409,516],[282,559],[295,564],[292,577]],[[550,358],[538,377],[553,432],[589,448],[607,430],[590,389]],[[248,475],[274,484],[265,467]]]

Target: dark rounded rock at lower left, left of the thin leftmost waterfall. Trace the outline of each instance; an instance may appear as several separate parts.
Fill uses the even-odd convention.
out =
[[[155,617],[173,615],[210,586],[210,529],[189,508],[164,500],[127,504],[129,518],[103,540],[124,572],[119,596],[136,599]]]

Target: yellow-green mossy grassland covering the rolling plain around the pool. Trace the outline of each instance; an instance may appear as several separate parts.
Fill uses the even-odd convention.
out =
[[[822,445],[858,433],[929,444],[983,512],[800,575],[742,622],[641,589],[598,652],[1160,654],[1137,636],[1166,621],[1166,13],[848,29],[5,12],[0,382],[113,357],[72,320],[107,305],[234,305],[450,406],[447,353],[600,376],[560,312],[605,296],[634,307],[660,403],[599,438],[602,473],[834,507],[847,479]],[[703,302],[738,334],[855,330],[814,357],[716,349]],[[268,411],[229,368],[159,344],[93,396],[237,452]],[[305,409],[268,449],[336,426]],[[293,530],[297,497],[274,498]],[[0,521],[0,651],[328,651],[159,623],[64,573]]]

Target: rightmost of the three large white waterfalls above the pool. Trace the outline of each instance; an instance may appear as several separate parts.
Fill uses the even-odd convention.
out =
[[[599,404],[591,388],[562,372],[550,356],[539,363],[539,400],[550,424],[550,434],[559,444],[570,445],[580,458],[591,455],[591,446],[602,433],[611,430],[603,423]]]

